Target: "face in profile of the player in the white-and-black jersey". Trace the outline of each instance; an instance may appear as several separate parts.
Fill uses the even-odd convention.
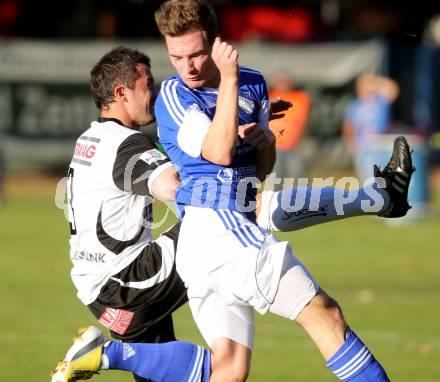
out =
[[[147,125],[155,120],[154,100],[156,89],[150,69],[139,64],[136,67],[139,78],[136,80],[133,89],[126,89],[128,100],[127,110],[130,118],[139,126]]]

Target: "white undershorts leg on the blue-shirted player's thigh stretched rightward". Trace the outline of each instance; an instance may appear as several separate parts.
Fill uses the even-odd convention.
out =
[[[307,268],[292,255],[291,247],[288,246],[270,312],[294,320],[318,290],[318,283]]]

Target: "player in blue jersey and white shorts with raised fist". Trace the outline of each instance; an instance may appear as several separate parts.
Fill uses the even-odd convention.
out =
[[[176,263],[212,350],[210,380],[247,378],[256,310],[303,326],[339,379],[388,381],[288,243],[255,222],[255,186],[275,161],[263,77],[239,67],[236,49],[216,37],[206,1],[170,0],[155,17],[177,71],[155,104],[160,142],[182,181]],[[252,145],[246,137],[257,131],[267,138]]]

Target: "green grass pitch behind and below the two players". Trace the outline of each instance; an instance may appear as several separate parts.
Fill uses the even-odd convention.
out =
[[[0,381],[49,381],[77,327],[96,324],[70,281],[67,223],[55,183],[20,183],[0,208]],[[25,196],[27,195],[27,196]],[[435,206],[438,209],[438,206]],[[440,381],[440,220],[390,226],[355,218],[280,235],[398,382]],[[187,307],[180,339],[202,343]],[[105,372],[96,381],[132,381]],[[258,317],[250,381],[335,381],[295,324]]]

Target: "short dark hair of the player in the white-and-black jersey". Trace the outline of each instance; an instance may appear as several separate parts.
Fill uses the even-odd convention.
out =
[[[119,46],[106,53],[90,71],[90,90],[96,107],[102,110],[115,101],[113,90],[117,85],[133,89],[138,79],[136,66],[150,68],[150,58],[144,53]]]

